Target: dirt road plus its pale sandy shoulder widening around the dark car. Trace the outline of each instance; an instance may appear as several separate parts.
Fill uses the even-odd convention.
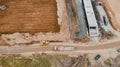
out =
[[[111,44],[103,44],[96,46],[75,46],[77,47],[75,51],[53,51],[53,47],[55,45],[51,44],[48,46],[39,46],[39,44],[33,44],[30,46],[1,46],[0,47],[0,55],[5,54],[21,54],[23,56],[31,56],[32,54],[55,54],[55,55],[69,55],[70,57],[78,57],[79,55],[87,54],[90,59],[92,65],[96,64],[94,57],[97,54],[101,55],[101,58],[98,60],[99,62],[103,62],[107,58],[115,58],[119,53],[116,51],[117,48],[120,47],[119,42],[111,43]],[[56,45],[63,46],[63,45]],[[95,66],[97,67],[97,66]]]

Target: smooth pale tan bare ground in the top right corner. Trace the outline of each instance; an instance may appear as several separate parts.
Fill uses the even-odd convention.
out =
[[[120,0],[103,0],[113,27],[120,31]]]

